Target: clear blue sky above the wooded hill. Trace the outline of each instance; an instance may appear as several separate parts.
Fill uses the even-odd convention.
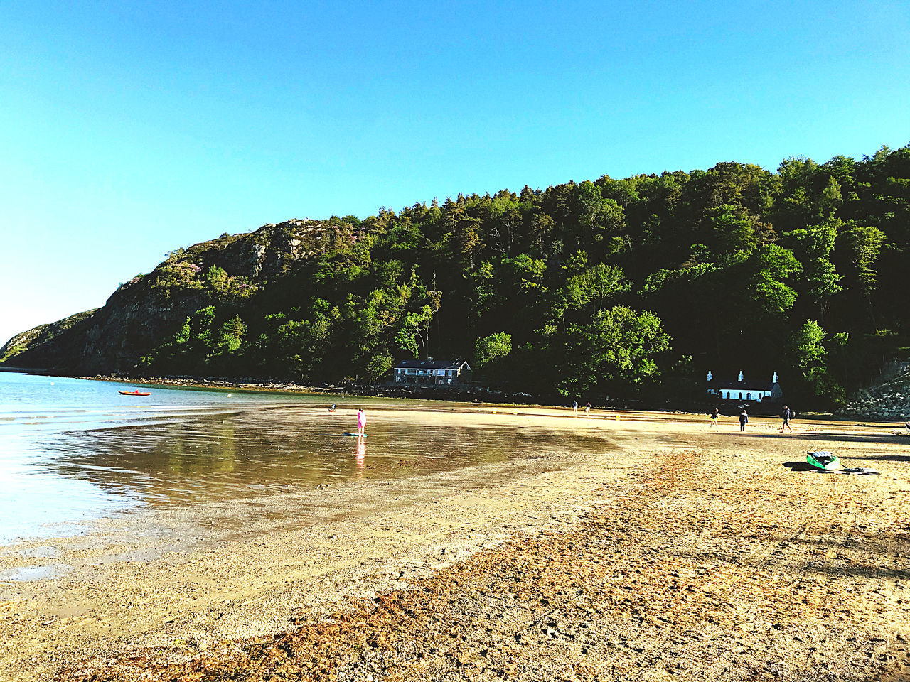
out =
[[[907,2],[5,2],[0,343],[177,246],[910,142]]]

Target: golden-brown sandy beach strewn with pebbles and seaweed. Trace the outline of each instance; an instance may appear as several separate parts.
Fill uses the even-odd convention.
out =
[[[35,544],[33,565],[72,569],[0,585],[0,679],[910,675],[910,438],[896,426],[796,421],[781,436],[776,419],[740,434],[732,418],[519,412],[435,418],[609,446],[517,439],[504,462]],[[818,449],[881,475],[784,466]],[[0,567],[29,563],[0,553]]]

